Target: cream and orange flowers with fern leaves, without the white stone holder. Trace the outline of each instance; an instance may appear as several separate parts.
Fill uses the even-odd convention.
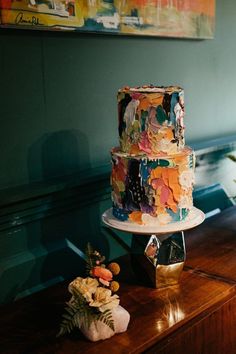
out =
[[[105,257],[93,250],[90,244],[86,249],[86,278],[77,277],[68,286],[71,299],[66,303],[65,314],[57,336],[70,333],[75,327],[89,329],[96,321],[105,323],[114,331],[111,310],[119,305],[119,296],[114,295],[119,283],[113,275],[120,272],[117,263],[104,264]]]

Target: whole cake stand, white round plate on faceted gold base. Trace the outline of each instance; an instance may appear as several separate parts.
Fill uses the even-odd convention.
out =
[[[133,270],[138,278],[154,288],[179,282],[186,259],[184,231],[200,225],[204,219],[204,213],[195,207],[186,220],[163,226],[120,221],[113,216],[112,208],[102,215],[107,226],[132,233]]]

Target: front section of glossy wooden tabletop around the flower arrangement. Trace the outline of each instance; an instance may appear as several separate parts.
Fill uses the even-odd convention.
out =
[[[66,293],[57,286],[53,294],[47,290],[24,304],[15,303],[10,320],[7,310],[1,312],[3,353],[17,353],[16,343],[19,353],[105,353],[111,345],[113,353],[141,353],[233,293],[232,285],[189,272],[183,273],[178,286],[163,290],[122,285],[121,304],[131,314],[124,334],[96,345],[76,333],[56,339]]]

